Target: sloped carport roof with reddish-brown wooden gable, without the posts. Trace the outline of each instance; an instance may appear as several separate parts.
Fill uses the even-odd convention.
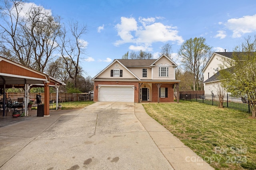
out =
[[[6,88],[24,87],[24,84],[38,84],[38,86],[41,84],[42,86],[45,82],[50,82],[52,86],[65,85],[47,74],[0,56],[0,88],[3,88],[4,84],[6,84]]]

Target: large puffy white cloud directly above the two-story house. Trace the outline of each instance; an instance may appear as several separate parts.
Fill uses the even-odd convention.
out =
[[[176,41],[178,44],[184,42],[183,38],[178,35],[177,27],[156,22],[156,19],[140,17],[138,23],[135,18],[121,17],[121,23],[116,25],[121,39],[114,45],[135,43],[136,46],[130,46],[130,48],[142,46],[146,48],[155,42]]]

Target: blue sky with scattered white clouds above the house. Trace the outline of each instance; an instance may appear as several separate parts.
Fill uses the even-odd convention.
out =
[[[255,0],[32,0],[62,22],[87,25],[80,65],[94,77],[127,51],[150,52],[172,45],[174,61],[187,39],[204,37],[214,52],[232,51],[256,35]]]

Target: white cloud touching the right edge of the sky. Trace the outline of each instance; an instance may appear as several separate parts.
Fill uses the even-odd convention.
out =
[[[232,18],[225,25],[233,31],[232,37],[241,37],[244,33],[256,31],[256,14],[253,16],[243,16],[242,18]]]

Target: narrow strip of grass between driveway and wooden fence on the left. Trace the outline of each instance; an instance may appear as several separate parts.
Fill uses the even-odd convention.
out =
[[[93,104],[93,101],[75,101],[75,102],[64,102],[59,103],[62,106],[62,109],[80,109],[88,105]],[[37,107],[32,107],[32,109],[37,109]],[[53,107],[50,106],[50,109],[56,109],[56,103],[53,104]]]

